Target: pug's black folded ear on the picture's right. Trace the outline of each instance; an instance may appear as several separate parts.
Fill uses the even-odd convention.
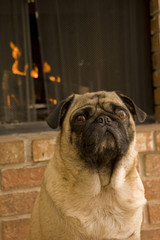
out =
[[[131,114],[133,115],[134,120],[137,118],[140,123],[144,122],[147,117],[147,114],[142,111],[137,105],[134,103],[132,99],[128,96],[123,95],[122,93],[116,92],[117,95],[122,99],[124,104],[127,106]]]

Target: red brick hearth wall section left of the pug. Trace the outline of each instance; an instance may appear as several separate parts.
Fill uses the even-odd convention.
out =
[[[57,133],[0,137],[0,239],[23,240]]]

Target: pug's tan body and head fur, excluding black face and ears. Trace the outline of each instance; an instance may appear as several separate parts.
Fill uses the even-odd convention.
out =
[[[84,168],[68,141],[69,117],[86,105],[88,96],[79,102],[77,95],[67,113],[35,202],[28,240],[140,239],[145,198],[136,170],[135,138],[110,180],[107,170],[97,173]],[[106,98],[105,104],[111,99],[123,105],[114,93]]]

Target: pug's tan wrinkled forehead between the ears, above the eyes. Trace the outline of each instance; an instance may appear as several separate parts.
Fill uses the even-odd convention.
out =
[[[84,95],[75,95],[73,109],[83,108],[86,105],[99,106],[108,109],[111,104],[125,106],[115,92],[92,92]]]

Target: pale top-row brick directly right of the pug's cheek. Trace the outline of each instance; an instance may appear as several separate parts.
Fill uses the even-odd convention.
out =
[[[138,132],[136,148],[138,152],[153,151],[153,133],[152,132]]]

